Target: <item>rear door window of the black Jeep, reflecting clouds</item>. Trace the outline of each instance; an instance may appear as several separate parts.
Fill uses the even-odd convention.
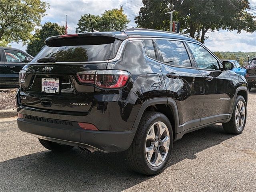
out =
[[[164,63],[174,66],[191,67],[191,62],[183,42],[173,40],[156,40],[156,42]]]

